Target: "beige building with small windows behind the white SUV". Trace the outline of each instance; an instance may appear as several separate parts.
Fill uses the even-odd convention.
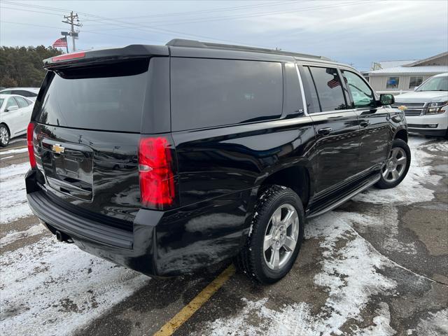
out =
[[[448,52],[417,61],[375,62],[364,76],[375,91],[400,94],[412,91],[428,78],[444,72],[448,72]]]

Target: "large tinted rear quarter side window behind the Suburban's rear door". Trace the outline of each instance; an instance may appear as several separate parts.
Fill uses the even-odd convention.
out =
[[[172,129],[279,118],[281,64],[230,59],[172,59]]]

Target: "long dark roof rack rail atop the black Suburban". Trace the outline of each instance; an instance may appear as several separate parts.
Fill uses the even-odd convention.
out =
[[[267,49],[267,48],[255,48],[255,47],[248,47],[246,45],[211,43],[211,42],[203,42],[203,41],[196,41],[196,40],[186,40],[183,38],[173,38],[166,45],[169,45],[172,47],[211,48],[211,49],[223,49],[223,50],[266,52],[269,54],[288,55],[288,56],[293,56],[293,57],[318,58],[318,59],[323,59],[325,61],[331,60],[327,57],[302,54],[300,52],[290,52],[290,51]]]

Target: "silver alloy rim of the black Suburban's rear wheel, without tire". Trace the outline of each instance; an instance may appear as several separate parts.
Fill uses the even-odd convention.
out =
[[[299,216],[291,204],[282,204],[274,211],[265,232],[263,256],[267,267],[281,269],[293,255],[299,237]]]

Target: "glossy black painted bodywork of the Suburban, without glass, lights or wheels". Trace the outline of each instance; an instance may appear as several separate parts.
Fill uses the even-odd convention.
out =
[[[333,68],[342,64],[255,52],[169,50],[170,57],[281,62],[281,118],[171,132],[170,58],[153,57],[140,133],[36,124],[38,168],[26,177],[31,209],[52,232],[60,230],[83,250],[139,272],[172,276],[236,255],[246,241],[258,190],[265,181],[300,167],[305,172],[300,179],[308,181],[291,179],[290,184],[307,186],[304,195],[309,214],[379,174],[395,134],[406,132],[402,113],[389,107],[307,115],[295,64],[313,62]],[[303,84],[308,94],[308,83]],[[351,104],[349,95],[346,101]],[[36,106],[39,109],[41,102]],[[176,156],[179,207],[168,211],[143,209],[139,202],[138,144],[141,137],[151,136],[169,137]],[[52,153],[49,148],[53,144],[67,148],[64,158]],[[74,167],[75,173],[67,167]],[[64,186],[67,177],[71,186]],[[43,194],[58,208],[39,203]],[[58,209],[68,211],[73,223],[111,225],[109,235],[116,235],[114,239],[130,237],[130,245],[105,242],[97,228],[80,234],[51,216]]]

